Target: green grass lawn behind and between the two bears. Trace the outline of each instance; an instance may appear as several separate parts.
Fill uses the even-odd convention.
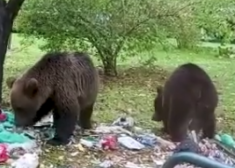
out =
[[[7,53],[4,79],[20,75],[30,68],[43,52],[38,48],[41,41],[36,41],[25,47],[21,45],[21,38],[14,35],[12,49]],[[151,56],[155,56],[155,66],[146,68],[141,66]],[[124,62],[119,60],[120,75],[112,81],[105,81],[100,91],[94,119],[98,122],[111,122],[122,113],[135,118],[141,127],[152,128],[157,125],[150,121],[153,112],[153,99],[156,86],[162,84],[167,75],[179,64],[195,62],[204,67],[216,82],[220,91],[220,106],[217,111],[222,116],[223,127],[219,129],[234,132],[235,124],[235,60],[218,59],[208,52],[171,51],[160,49],[148,53],[140,53]],[[97,64],[97,60],[95,59]],[[133,67],[134,66],[134,67]],[[9,102],[9,90],[4,82],[4,100]]]

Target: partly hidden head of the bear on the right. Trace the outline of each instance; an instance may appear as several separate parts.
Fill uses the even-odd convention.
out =
[[[153,121],[162,121],[162,106],[163,106],[163,87],[157,87],[157,96],[154,100],[154,113],[152,116]]]

